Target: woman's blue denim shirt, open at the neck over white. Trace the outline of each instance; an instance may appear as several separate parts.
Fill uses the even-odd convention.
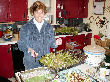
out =
[[[56,48],[57,46],[55,46],[53,27],[46,20],[40,32],[33,19],[22,26],[19,32],[18,48],[24,52],[24,55],[28,54],[28,48],[32,48],[38,53],[37,59],[39,60],[41,56],[50,53],[50,47]]]

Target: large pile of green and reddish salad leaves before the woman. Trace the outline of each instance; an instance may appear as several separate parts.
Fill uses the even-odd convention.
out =
[[[52,67],[56,70],[73,66],[82,61],[82,57],[74,55],[71,51],[60,50],[56,53],[49,53],[39,60],[44,66]]]

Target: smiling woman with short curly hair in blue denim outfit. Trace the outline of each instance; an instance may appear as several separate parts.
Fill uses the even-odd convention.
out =
[[[50,53],[50,47],[57,47],[53,28],[44,20],[46,6],[36,1],[30,7],[30,13],[34,18],[22,26],[18,41],[19,49],[24,52],[25,70],[39,67],[41,56]]]

